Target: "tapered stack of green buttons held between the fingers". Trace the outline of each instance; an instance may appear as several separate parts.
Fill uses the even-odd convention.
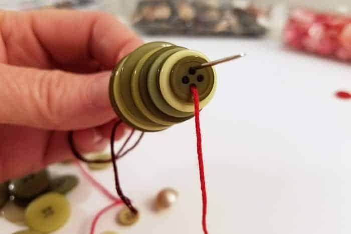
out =
[[[212,67],[192,69],[208,62],[199,52],[166,42],[145,44],[122,59],[110,81],[110,100],[117,115],[131,127],[154,132],[194,116],[190,91],[196,85],[200,108],[216,91]]]

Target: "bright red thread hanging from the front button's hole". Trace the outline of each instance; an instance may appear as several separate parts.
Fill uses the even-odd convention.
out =
[[[201,143],[199,93],[195,85],[192,85],[190,89],[193,94],[194,107],[195,107],[195,126],[196,126],[196,138],[197,138],[197,148],[198,148],[200,182],[201,182],[201,191],[202,191],[202,228],[204,230],[204,233],[208,234],[207,224],[206,224],[207,194],[206,194],[205,168],[204,168],[202,143]]]

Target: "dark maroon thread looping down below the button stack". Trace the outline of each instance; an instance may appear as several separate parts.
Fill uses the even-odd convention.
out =
[[[117,153],[115,153],[114,150],[114,142],[115,142],[115,134],[117,131],[117,128],[121,125],[122,121],[119,120],[115,123],[115,125],[112,128],[112,133],[111,133],[111,159],[107,159],[107,160],[89,160],[87,158],[85,158],[83,155],[81,155],[78,150],[76,149],[76,146],[74,144],[74,140],[73,140],[73,132],[71,131],[68,135],[68,140],[69,140],[69,144],[71,147],[71,150],[73,152],[73,154],[81,161],[87,162],[87,163],[106,163],[106,162],[111,162],[113,164],[113,172],[114,172],[114,177],[115,177],[115,187],[116,187],[116,191],[117,194],[119,195],[119,197],[121,198],[121,200],[123,201],[123,203],[133,212],[133,213],[137,213],[137,209],[131,204],[130,199],[124,195],[121,186],[120,186],[120,182],[119,182],[119,176],[118,176],[118,168],[117,168],[117,162],[116,160],[125,156],[128,152],[130,152],[131,150],[133,150],[140,142],[141,138],[143,137],[144,133],[142,132],[139,136],[139,138],[137,139],[137,141],[134,143],[134,145],[132,145],[130,148],[128,148],[127,150],[125,150],[123,153],[122,151],[124,150],[124,148],[126,147],[126,145],[128,144],[129,140],[131,139],[132,135],[134,134],[134,130],[131,131],[131,133],[129,134],[128,138],[124,141],[122,147],[118,150]]]

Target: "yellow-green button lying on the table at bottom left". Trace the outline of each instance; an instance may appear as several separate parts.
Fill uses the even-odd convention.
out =
[[[47,193],[35,199],[26,208],[26,224],[36,231],[52,232],[68,221],[70,212],[69,201],[64,195]]]

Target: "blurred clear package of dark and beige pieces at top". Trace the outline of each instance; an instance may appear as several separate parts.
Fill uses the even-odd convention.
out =
[[[260,37],[269,9],[249,1],[141,0],[132,25],[145,34]]]

